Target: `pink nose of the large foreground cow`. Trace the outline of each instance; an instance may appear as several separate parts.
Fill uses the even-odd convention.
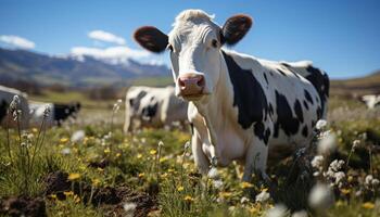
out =
[[[205,86],[203,75],[185,74],[178,78],[181,95],[201,94]]]

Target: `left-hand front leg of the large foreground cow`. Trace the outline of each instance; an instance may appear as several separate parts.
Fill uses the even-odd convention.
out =
[[[201,171],[201,174],[206,175],[210,169],[210,162],[202,150],[202,141],[199,138],[197,129],[194,129],[194,132],[191,137],[191,149],[198,169]]]

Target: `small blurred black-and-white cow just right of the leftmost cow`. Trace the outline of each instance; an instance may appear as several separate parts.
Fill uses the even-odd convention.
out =
[[[76,114],[80,110],[80,103],[45,103],[30,101],[30,125],[39,127],[45,118],[45,125],[47,127],[61,126],[61,124],[68,117],[76,117]],[[43,117],[45,111],[50,107],[50,113],[47,117]]]

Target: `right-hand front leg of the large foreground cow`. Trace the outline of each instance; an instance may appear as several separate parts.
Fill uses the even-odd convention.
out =
[[[245,167],[243,174],[243,181],[251,182],[253,173],[265,181],[269,181],[266,174],[266,164],[268,157],[268,145],[257,137],[253,137],[252,142],[245,155]]]

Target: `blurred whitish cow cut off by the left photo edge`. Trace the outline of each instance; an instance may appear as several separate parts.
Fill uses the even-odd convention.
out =
[[[26,129],[29,126],[29,105],[27,101],[27,94],[4,86],[0,86],[0,125],[3,127],[16,127],[16,122],[11,117],[12,114],[7,115],[8,107],[12,102],[14,95],[18,95],[20,104],[17,110],[22,111],[22,116],[20,119],[21,129]]]

